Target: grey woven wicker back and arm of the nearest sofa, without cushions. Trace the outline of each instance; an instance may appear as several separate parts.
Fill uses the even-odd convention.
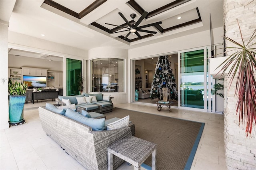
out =
[[[45,107],[39,107],[39,117],[46,134],[88,170],[106,170],[108,146],[132,135],[130,127],[94,131],[87,125],[49,111]],[[123,163],[124,160],[113,157],[114,169]]]

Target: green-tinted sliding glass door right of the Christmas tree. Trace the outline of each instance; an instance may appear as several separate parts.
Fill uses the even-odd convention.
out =
[[[208,82],[212,84],[207,74],[208,49],[205,47],[180,51],[179,56],[179,106],[207,111],[208,105],[212,105],[210,90],[208,90],[211,88]],[[210,102],[208,102],[208,97],[210,97]]]

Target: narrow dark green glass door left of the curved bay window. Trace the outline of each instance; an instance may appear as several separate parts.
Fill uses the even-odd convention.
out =
[[[73,96],[79,95],[78,90],[78,75],[82,75],[82,61],[77,59],[66,59],[66,95]]]

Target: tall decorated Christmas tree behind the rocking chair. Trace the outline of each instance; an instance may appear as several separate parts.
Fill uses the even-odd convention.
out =
[[[158,57],[154,78],[151,85],[150,98],[156,99],[160,97],[160,91],[163,87],[167,87],[170,91],[170,99],[176,99],[176,83],[175,77],[171,69],[168,55]]]

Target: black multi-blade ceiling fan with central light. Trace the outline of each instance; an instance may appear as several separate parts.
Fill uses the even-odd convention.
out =
[[[124,15],[121,12],[118,12],[118,14],[123,18],[123,20],[126,22],[126,24],[129,27],[118,26],[118,25],[108,24],[108,23],[105,23],[105,24],[128,29],[128,30],[124,30],[124,31],[117,31],[117,32],[111,32],[110,33],[110,34],[114,34],[114,33],[118,33],[118,32],[129,31],[128,34],[124,37],[124,39],[126,39],[131,33],[136,34],[136,36],[138,36],[138,38],[140,38],[140,39],[142,39],[142,37],[140,36],[140,34],[138,32],[147,32],[147,33],[151,33],[151,34],[156,34],[157,32],[149,31],[149,30],[142,30],[142,28],[147,28],[147,27],[150,27],[150,26],[156,26],[156,25],[162,24],[162,21],[160,21],[160,22],[155,22],[155,23],[152,23],[152,24],[147,24],[147,25],[144,25],[144,26],[139,26],[139,24],[142,22],[142,20],[148,15],[148,12],[146,12],[146,11],[143,12],[142,16],[140,16],[140,18],[138,19],[137,22],[135,22],[135,24],[134,24],[134,18],[136,17],[136,14],[131,14],[130,15],[131,18],[132,18],[132,24],[130,24],[130,22],[128,22],[128,20],[124,17]]]

